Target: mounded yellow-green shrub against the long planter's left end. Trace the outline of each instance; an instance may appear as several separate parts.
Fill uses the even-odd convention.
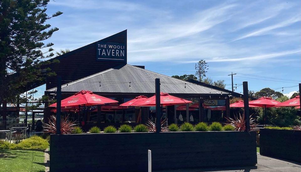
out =
[[[45,150],[49,146],[46,139],[42,139],[39,136],[31,136],[28,139],[16,144],[13,149],[39,149]]]

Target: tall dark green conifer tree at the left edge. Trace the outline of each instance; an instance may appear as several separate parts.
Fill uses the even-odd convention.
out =
[[[62,14],[48,16],[48,2],[3,0],[0,3],[0,102],[15,101],[27,83],[48,76],[41,59],[54,55],[51,48],[54,44],[46,42],[59,30],[51,28],[48,20]]]

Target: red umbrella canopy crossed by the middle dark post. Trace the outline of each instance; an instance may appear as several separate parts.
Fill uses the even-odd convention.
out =
[[[175,104],[187,104],[192,103],[192,101],[185,100],[182,98],[178,98],[175,96],[171,96],[168,93],[160,92],[160,104],[162,106],[170,106]],[[156,95],[141,101],[140,103],[136,104],[135,106],[156,106]]]

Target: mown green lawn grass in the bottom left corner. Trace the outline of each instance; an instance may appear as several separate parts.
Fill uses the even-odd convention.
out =
[[[45,171],[44,152],[32,150],[0,150],[0,171]]]

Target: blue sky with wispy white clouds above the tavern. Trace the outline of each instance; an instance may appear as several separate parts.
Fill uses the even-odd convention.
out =
[[[301,1],[56,0],[47,8],[63,12],[48,21],[60,29],[47,40],[56,51],[128,29],[129,64],[171,76],[194,74],[203,59],[213,80],[230,84],[235,72],[234,83],[254,91],[292,86],[283,93],[293,94],[301,83]]]

